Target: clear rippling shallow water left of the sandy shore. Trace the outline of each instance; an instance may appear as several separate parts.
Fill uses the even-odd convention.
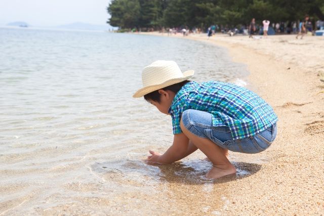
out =
[[[197,81],[246,74],[204,42],[0,28],[0,215],[217,213],[226,192],[205,179],[203,154],[142,161],[173,139],[171,117],[132,98],[155,60],[193,69]]]

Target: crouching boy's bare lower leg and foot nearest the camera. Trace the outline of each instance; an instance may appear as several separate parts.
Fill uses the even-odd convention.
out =
[[[221,147],[215,145],[208,138],[200,138],[191,132],[180,121],[182,132],[193,142],[193,144],[202,151],[213,163],[213,168],[206,175],[207,178],[218,179],[223,176],[235,174],[235,167],[229,162]]]

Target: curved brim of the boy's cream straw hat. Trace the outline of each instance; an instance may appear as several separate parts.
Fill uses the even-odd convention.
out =
[[[194,74],[193,70],[187,70],[187,71],[183,72],[183,77],[169,79],[169,80],[167,80],[167,81],[165,81],[163,83],[156,84],[156,85],[148,85],[146,87],[143,87],[143,88],[139,89],[133,95],[133,98],[140,98],[140,97],[143,97],[144,95],[146,95],[148,93],[154,92],[154,91],[159,90],[159,89],[163,89],[163,88],[165,88],[165,87],[167,87],[169,85],[173,85],[173,84],[182,82],[184,80],[190,79],[193,76],[193,74]]]

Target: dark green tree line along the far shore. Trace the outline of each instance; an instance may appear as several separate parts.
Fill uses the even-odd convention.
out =
[[[252,18],[295,21],[308,14],[324,20],[323,0],[112,0],[107,8],[112,26],[127,28],[234,27]]]

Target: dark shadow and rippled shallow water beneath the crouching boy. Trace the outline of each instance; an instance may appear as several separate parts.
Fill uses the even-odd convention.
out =
[[[208,160],[183,160],[172,164],[148,164],[143,160],[119,160],[104,163],[95,163],[92,170],[100,176],[131,178],[140,180],[148,177],[153,182],[181,183],[189,185],[201,185],[205,183],[225,183],[254,175],[261,169],[261,164],[235,162],[236,174],[221,179],[207,179],[205,175],[212,168]]]

